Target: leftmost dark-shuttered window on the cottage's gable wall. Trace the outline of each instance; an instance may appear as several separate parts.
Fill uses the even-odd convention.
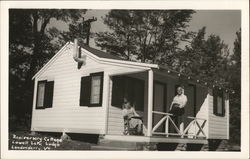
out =
[[[53,105],[54,81],[38,81],[36,109],[51,108]]]

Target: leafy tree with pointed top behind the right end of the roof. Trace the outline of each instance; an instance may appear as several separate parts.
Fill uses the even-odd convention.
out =
[[[179,71],[206,81],[226,86],[222,72],[228,69],[228,46],[217,35],[205,39],[206,28],[200,29],[190,46],[180,53]]]

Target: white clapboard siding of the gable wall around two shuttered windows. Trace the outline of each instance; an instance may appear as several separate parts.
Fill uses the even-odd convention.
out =
[[[141,68],[122,67],[111,63],[103,64],[90,56],[86,58],[86,65],[77,69],[77,62],[73,60],[72,53],[73,45],[64,47],[53,62],[36,76],[36,82],[40,80],[54,81],[53,107],[35,109],[36,101],[34,101],[31,130],[105,133],[104,107],[79,106],[81,77],[95,72],[114,74],[145,71]],[[36,89],[34,98],[36,100]],[[111,99],[111,94],[109,98]],[[114,131],[118,130],[114,129]]]

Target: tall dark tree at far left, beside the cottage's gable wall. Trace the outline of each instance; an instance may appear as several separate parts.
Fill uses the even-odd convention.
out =
[[[32,76],[65,41],[59,29],[49,28],[52,19],[76,23],[86,10],[9,10],[9,117],[31,113]],[[58,43],[59,42],[59,43]]]

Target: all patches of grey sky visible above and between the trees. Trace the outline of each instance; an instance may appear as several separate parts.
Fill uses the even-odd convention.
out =
[[[84,15],[85,19],[97,17],[97,21],[91,24],[92,33],[107,30],[102,17],[108,12],[109,10],[87,11]],[[63,30],[67,29],[66,24],[62,22],[52,21],[50,25]],[[203,26],[206,27],[206,37],[211,34],[219,35],[232,53],[236,32],[241,28],[241,12],[240,10],[196,10],[187,30],[197,32]],[[90,39],[90,46],[97,48],[94,39]]]

